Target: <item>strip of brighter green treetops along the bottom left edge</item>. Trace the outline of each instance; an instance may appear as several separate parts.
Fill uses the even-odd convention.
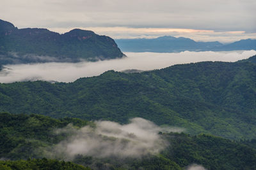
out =
[[[0,160],[1,170],[23,170],[23,169],[44,169],[44,170],[90,170],[88,167],[83,167],[72,162],[64,162],[52,159],[28,159],[28,160]]]

